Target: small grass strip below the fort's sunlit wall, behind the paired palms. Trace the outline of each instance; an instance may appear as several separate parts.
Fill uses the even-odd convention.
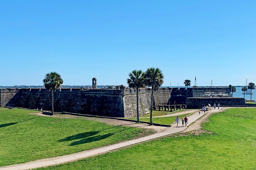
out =
[[[189,113],[187,114],[180,114],[178,115],[179,118],[184,118],[185,116],[188,116]],[[165,125],[170,125],[175,121],[177,116],[169,116],[169,117],[159,117],[159,118],[152,118],[153,123],[160,123],[160,124],[165,124]],[[125,118],[125,119],[132,119],[132,120],[137,120],[137,118]],[[150,118],[140,118],[140,121],[147,121],[150,122]]]

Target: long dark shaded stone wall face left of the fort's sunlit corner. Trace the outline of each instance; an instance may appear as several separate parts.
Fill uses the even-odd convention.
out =
[[[46,89],[0,89],[0,106],[51,110],[51,92]],[[54,92],[54,110],[124,117],[123,91],[105,89],[61,89]]]

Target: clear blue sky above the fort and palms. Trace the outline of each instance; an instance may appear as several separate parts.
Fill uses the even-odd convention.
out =
[[[0,85],[126,84],[159,67],[163,86],[256,83],[256,1],[0,1]],[[251,69],[250,69],[251,67]]]

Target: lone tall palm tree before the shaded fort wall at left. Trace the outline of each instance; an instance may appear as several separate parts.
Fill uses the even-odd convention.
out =
[[[52,91],[52,115],[53,112],[53,92],[56,89],[59,89],[61,87],[61,84],[63,83],[63,80],[60,76],[60,74],[56,72],[50,72],[45,75],[45,78],[43,79],[43,84],[47,90]]]

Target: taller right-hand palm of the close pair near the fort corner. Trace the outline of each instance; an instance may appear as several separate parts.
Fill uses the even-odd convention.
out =
[[[152,121],[152,112],[153,112],[153,99],[154,99],[154,90],[161,87],[163,84],[163,73],[159,68],[148,68],[145,72],[145,82],[147,86],[152,87],[151,91],[151,106],[150,106],[150,125],[153,125]]]

